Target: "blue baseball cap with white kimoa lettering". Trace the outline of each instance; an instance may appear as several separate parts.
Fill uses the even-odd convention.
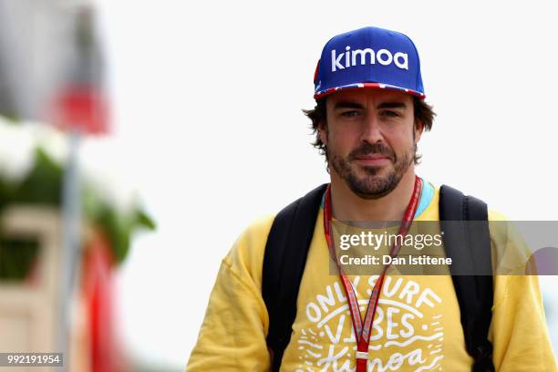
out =
[[[426,98],[417,47],[399,32],[364,27],[333,37],[315,67],[314,98],[346,88],[384,88]]]

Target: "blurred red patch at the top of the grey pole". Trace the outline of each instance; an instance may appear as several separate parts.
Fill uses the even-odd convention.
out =
[[[55,98],[53,122],[61,129],[77,129],[86,134],[109,131],[109,109],[98,89],[87,86],[67,88]]]

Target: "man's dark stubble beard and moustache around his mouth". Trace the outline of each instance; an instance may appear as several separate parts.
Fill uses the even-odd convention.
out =
[[[362,199],[379,199],[393,191],[408,171],[414,161],[415,146],[398,157],[395,152],[382,143],[363,143],[362,146],[352,150],[346,158],[338,156],[327,148],[329,163],[337,175],[346,182],[346,185]],[[359,166],[354,160],[357,156],[381,154],[391,160],[393,166],[370,167]],[[387,172],[386,172],[387,170]],[[359,173],[365,175],[359,175]],[[386,173],[381,175],[381,173]]]

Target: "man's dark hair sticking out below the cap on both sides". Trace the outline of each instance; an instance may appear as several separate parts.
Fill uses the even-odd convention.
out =
[[[312,142],[312,145],[320,150],[320,154],[325,155],[325,162],[328,162],[327,159],[327,151],[325,150],[325,143],[322,142],[320,139],[320,125],[324,124],[327,125],[327,115],[325,110],[325,98],[317,99],[315,102],[314,109],[303,109],[305,116],[307,116],[310,120],[312,120],[312,134],[315,135],[315,140]],[[424,99],[420,99],[416,96],[413,96],[413,111],[415,113],[415,125],[418,123],[422,123],[424,130],[428,131],[432,129],[432,122],[434,121],[434,117],[436,113],[432,109]],[[415,164],[418,164],[420,161],[421,155],[417,154],[415,151]]]

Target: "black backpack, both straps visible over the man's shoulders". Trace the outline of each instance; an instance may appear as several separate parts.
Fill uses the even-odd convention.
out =
[[[289,344],[296,315],[296,299],[305,270],[315,220],[327,184],[308,192],[279,212],[274,219],[263,255],[263,301],[269,314],[267,346],[272,370],[279,371]],[[491,273],[491,238],[486,203],[443,185],[439,191],[439,220],[450,271]],[[479,221],[483,223],[445,223]],[[478,271],[476,271],[478,270]],[[491,275],[451,276],[460,305],[460,321],[473,372],[494,371],[488,340],[493,303]]]

